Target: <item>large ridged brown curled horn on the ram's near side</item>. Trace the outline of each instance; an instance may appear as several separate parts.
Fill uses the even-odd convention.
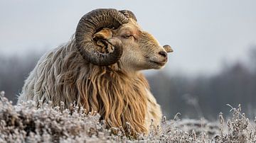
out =
[[[96,9],[82,16],[75,31],[75,44],[82,57],[92,64],[108,66],[116,63],[122,56],[122,42],[117,38],[108,40],[114,51],[104,54],[97,51],[93,35],[102,28],[118,28],[129,20],[116,9]]]

